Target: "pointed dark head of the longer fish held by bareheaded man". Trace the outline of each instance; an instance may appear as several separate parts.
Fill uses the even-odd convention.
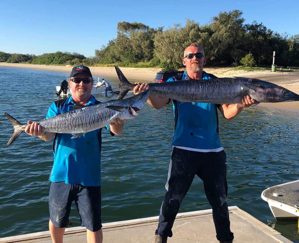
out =
[[[247,86],[250,89],[249,95],[258,102],[286,102],[299,101],[299,95],[277,84],[249,79]]]

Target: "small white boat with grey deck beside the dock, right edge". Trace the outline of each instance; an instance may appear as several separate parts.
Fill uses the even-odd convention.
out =
[[[269,187],[262,192],[261,197],[268,202],[271,212],[277,220],[298,220],[299,180]]]

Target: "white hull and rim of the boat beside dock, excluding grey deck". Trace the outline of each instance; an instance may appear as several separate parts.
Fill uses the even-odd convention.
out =
[[[287,183],[283,183],[280,185],[267,188],[262,192],[261,195],[261,198],[264,201],[268,202],[270,210],[273,216],[277,220],[298,220],[299,210],[295,206],[295,204],[290,205],[290,204],[283,203],[282,200],[280,200],[279,195],[277,197],[273,195],[269,195],[269,190],[273,189],[274,187],[280,187],[282,189],[292,190],[294,191],[294,193],[298,193],[299,195],[299,180],[291,181],[291,182],[287,182]],[[287,193],[285,195],[280,194],[280,197],[287,197]]]

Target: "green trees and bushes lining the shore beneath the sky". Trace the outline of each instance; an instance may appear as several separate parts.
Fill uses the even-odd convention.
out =
[[[247,55],[252,64],[270,66],[273,51],[278,65],[299,66],[299,34],[288,37],[268,29],[263,23],[244,24],[243,12],[220,12],[209,24],[186,19],[185,26],[174,24],[151,28],[143,23],[119,22],[117,37],[95,50],[86,58],[78,53],[56,52],[40,56],[0,52],[0,61],[29,62],[32,64],[118,64],[130,66],[178,69],[182,67],[183,51],[191,43],[205,50],[207,66],[240,64]]]

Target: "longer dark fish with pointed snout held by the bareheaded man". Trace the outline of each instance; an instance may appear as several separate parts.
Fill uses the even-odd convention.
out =
[[[137,84],[130,83],[115,66],[120,80],[122,99]],[[299,101],[299,95],[273,83],[249,78],[186,79],[176,82],[149,83],[150,93],[180,102],[205,102],[217,104],[241,103],[244,95],[259,102]]]

